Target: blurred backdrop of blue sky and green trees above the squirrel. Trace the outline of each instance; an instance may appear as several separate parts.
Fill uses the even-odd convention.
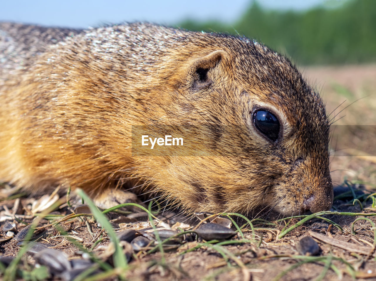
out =
[[[3,1],[0,20],[87,28],[150,21],[256,38],[304,65],[376,61],[374,0]]]

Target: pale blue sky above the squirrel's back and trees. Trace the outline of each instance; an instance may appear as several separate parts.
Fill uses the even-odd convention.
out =
[[[47,26],[88,27],[122,21],[150,21],[174,24],[193,20],[235,21],[252,0],[3,0],[0,21],[18,21]],[[329,0],[341,2],[343,0]],[[273,9],[307,9],[328,0],[259,0]]]

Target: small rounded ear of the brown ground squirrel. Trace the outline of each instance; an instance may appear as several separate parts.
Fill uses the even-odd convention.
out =
[[[209,71],[214,69],[225,55],[225,51],[218,50],[193,62],[190,70],[190,76],[192,77],[190,87],[198,89],[210,86],[212,84],[212,76]]]

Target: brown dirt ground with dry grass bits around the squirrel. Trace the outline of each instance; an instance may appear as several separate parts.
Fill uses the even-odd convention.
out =
[[[323,95],[327,112],[333,112],[331,116],[339,113],[335,117],[339,119],[335,125],[369,125],[372,128],[376,124],[376,65],[301,69],[309,82]],[[344,103],[341,104],[342,102]],[[201,236],[196,240],[195,234],[187,234],[178,245],[171,246],[171,249],[164,248],[163,252],[148,253],[150,246],[139,251],[132,248],[129,250],[128,246],[131,244],[125,243],[124,253],[130,257],[129,265],[125,273],[123,272],[125,277],[131,280],[376,280],[376,197],[373,194],[376,192],[376,154],[366,151],[366,148],[375,146],[373,136],[376,135],[373,135],[371,129],[369,131],[371,133],[366,137],[354,141],[356,149],[349,150],[350,152],[338,150],[338,147],[341,144],[348,145],[346,138],[353,138],[353,135],[336,136],[335,142],[332,139],[331,170],[336,197],[331,211],[339,213],[324,213],[320,218],[309,219],[301,225],[299,221],[303,218],[277,221],[269,216],[268,222],[253,222],[254,237],[248,225],[242,229],[244,238],[238,233],[225,240],[231,241],[228,242],[229,245],[206,243]],[[8,265],[5,257],[14,258],[20,251],[20,238],[15,235],[22,231],[25,223],[30,224],[35,218],[35,213],[48,209],[48,202],[57,202],[54,212],[40,221],[47,233],[42,236],[39,243],[64,252],[64,256],[70,262],[90,261],[92,258],[88,258],[86,253],[90,252],[99,261],[104,261],[113,268],[113,264],[116,263],[112,258],[114,251],[111,250],[102,225],[91,215],[64,220],[66,216],[72,215],[72,211],[90,213],[86,209],[74,208],[80,202],[72,199],[70,203],[73,206],[69,207],[65,195],[52,195],[43,202],[39,199],[41,196],[32,198],[18,193],[8,197],[14,193],[10,188],[3,184],[0,192],[0,261],[3,264]],[[355,198],[358,200],[354,200]],[[353,222],[367,214],[374,216],[367,216],[370,221],[356,221],[354,233]],[[190,230],[199,222],[182,220],[184,224],[180,224],[179,218],[174,218],[173,214],[164,214],[159,218],[165,223],[163,227],[172,228],[174,231],[177,226],[183,230]],[[246,222],[236,216],[233,218],[240,227]],[[108,219],[115,231],[139,230],[145,227],[139,223],[145,218],[132,217],[132,214],[109,213]],[[327,221],[328,219],[331,221]],[[15,225],[10,233],[6,227],[7,222]],[[55,227],[50,225],[53,222],[58,222]],[[285,229],[293,225],[296,228],[279,238]],[[161,225],[158,224],[157,227]],[[152,231],[150,225],[147,225],[146,229]],[[234,226],[232,229],[236,230]],[[149,237],[145,233],[137,235]],[[312,237],[313,242],[312,239],[300,241],[305,236]],[[190,251],[195,247],[197,249]],[[315,255],[304,255],[304,249]],[[29,251],[17,266],[16,279],[85,279],[75,275],[57,274],[48,260],[49,258],[47,262],[43,262],[40,255],[38,257],[38,254]],[[50,258],[51,260],[53,258]],[[90,261],[90,265],[97,268],[99,261]],[[36,268],[35,264],[38,264]],[[47,267],[49,277],[44,278],[41,271],[33,271],[41,268],[40,264]],[[0,269],[3,270],[1,266]],[[97,269],[102,275],[90,275],[85,280],[118,278],[119,272],[116,270],[111,274],[109,269]],[[80,270],[82,271],[84,270]],[[107,272],[107,275],[103,275],[103,272]],[[2,273],[1,276],[9,279],[9,274]]]

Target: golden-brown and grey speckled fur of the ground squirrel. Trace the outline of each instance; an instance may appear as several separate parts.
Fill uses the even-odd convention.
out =
[[[31,43],[22,39],[27,28],[0,24],[1,180],[28,190],[80,187],[97,199],[140,186],[211,212],[331,206],[324,105],[285,57],[247,38],[151,24],[44,29],[34,38],[56,40]],[[278,117],[275,144],[254,127],[256,107]],[[131,126],[152,124],[189,124],[216,154],[195,156],[208,149],[197,142],[184,157],[132,156]]]

